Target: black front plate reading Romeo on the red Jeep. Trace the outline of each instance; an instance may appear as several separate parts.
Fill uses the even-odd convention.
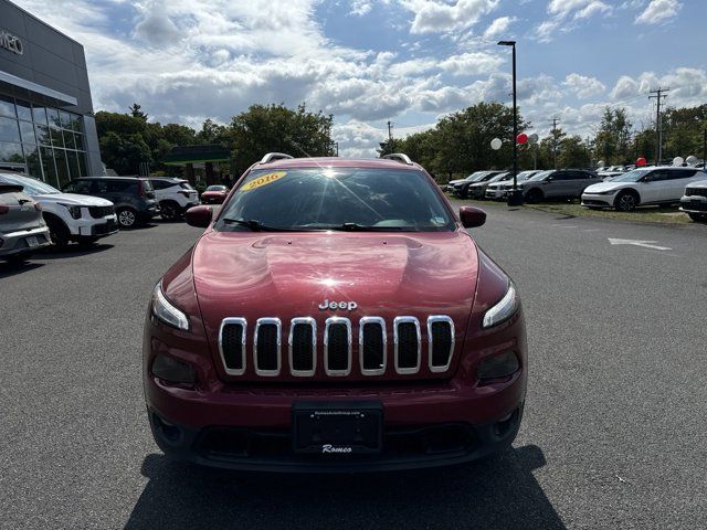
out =
[[[380,402],[296,402],[292,413],[295,453],[346,456],[382,448]]]

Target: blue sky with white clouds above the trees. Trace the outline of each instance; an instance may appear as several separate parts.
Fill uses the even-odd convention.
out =
[[[591,135],[606,105],[636,129],[667,104],[707,103],[705,0],[15,0],[84,44],[96,109],[225,123],[255,103],[335,115],[345,155],[509,102],[518,41],[524,117]]]

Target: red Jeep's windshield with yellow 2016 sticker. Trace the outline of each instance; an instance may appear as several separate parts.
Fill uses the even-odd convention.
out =
[[[249,173],[217,230],[456,230],[421,171],[303,168]]]

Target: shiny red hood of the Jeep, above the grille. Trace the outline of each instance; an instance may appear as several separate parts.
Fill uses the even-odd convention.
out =
[[[464,231],[434,233],[208,232],[193,250],[194,288],[211,337],[225,317],[449,315],[466,329],[478,256]],[[358,308],[321,310],[324,300]],[[252,329],[252,328],[251,328]]]

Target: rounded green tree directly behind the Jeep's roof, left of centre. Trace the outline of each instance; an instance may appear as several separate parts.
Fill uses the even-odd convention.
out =
[[[305,105],[296,110],[284,105],[253,105],[231,121],[233,167],[236,174],[271,151],[294,157],[334,155],[334,117],[320,110],[310,113]]]

